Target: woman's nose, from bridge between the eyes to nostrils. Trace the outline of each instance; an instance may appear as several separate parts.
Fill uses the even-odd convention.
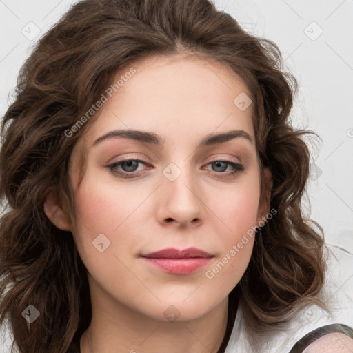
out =
[[[157,218],[160,223],[174,223],[179,227],[187,227],[199,225],[203,220],[201,188],[196,181],[196,175],[186,167],[178,168],[172,164],[170,168],[166,168],[157,192],[159,202]]]

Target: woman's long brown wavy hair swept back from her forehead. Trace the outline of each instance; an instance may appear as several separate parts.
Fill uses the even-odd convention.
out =
[[[298,83],[283,70],[278,46],[246,32],[208,0],[83,0],[37,42],[1,125],[0,324],[9,320],[12,348],[16,343],[21,353],[75,352],[91,318],[87,270],[72,233],[43,211],[52,190],[75,224],[68,170],[90,121],[70,138],[65,131],[98,101],[114,73],[158,54],[218,61],[240,75],[251,94],[261,171],[272,172],[270,205],[277,213],[256,235],[248,268],[230,293],[219,353],[239,300],[246,330],[257,333],[288,322],[310,303],[326,309],[318,295],[325,279],[323,229],[301,205],[311,159],[304,137],[314,132],[292,127]],[[83,153],[81,177],[84,160]],[[40,312],[30,329],[22,316],[28,305]]]

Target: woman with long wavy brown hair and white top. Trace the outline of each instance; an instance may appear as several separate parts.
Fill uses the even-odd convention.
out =
[[[352,345],[336,321],[291,341],[303,310],[330,307],[323,230],[301,211],[310,132],[290,125],[281,65],[208,0],[80,1],[39,41],[0,154],[0,312],[19,352]]]

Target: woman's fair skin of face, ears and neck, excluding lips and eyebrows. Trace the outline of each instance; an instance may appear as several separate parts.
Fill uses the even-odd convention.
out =
[[[260,203],[254,143],[237,137],[196,146],[208,134],[230,130],[244,130],[254,141],[252,106],[241,111],[233,103],[248,88],[224,65],[180,55],[150,57],[134,68],[137,73],[103,105],[72,152],[74,241],[88,269],[92,299],[92,322],[81,337],[81,352],[91,352],[90,334],[93,352],[217,352],[225,334],[228,294],[245,272],[254,238],[248,237],[212,279],[205,272],[265,219],[270,204]],[[121,70],[114,82],[127,71]],[[93,146],[117,129],[154,132],[164,145],[114,137]],[[78,187],[83,146],[88,163]],[[145,163],[136,165],[132,178],[118,177],[106,167],[125,158]],[[231,164],[217,168],[216,161],[241,163],[245,170],[232,176]],[[170,163],[181,172],[174,181],[163,174]],[[115,169],[129,173],[127,165]],[[270,172],[263,176],[270,188]],[[54,194],[48,194],[44,209],[58,228],[73,231]],[[110,241],[103,252],[92,245],[98,234]],[[214,256],[192,274],[163,272],[139,257],[189,247]],[[171,321],[165,310],[177,320]]]

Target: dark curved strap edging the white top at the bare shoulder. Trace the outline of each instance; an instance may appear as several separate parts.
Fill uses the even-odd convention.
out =
[[[292,347],[290,353],[303,353],[305,348],[311,345],[314,341],[316,341],[316,339],[319,339],[320,337],[325,336],[326,334],[332,334],[335,332],[345,334],[346,336],[349,336],[351,339],[353,339],[352,327],[343,325],[341,323],[334,323],[332,325],[326,325],[316,328],[316,330],[312,330],[308,334],[305,334],[305,336],[303,336],[303,338],[296,342],[296,344]]]

